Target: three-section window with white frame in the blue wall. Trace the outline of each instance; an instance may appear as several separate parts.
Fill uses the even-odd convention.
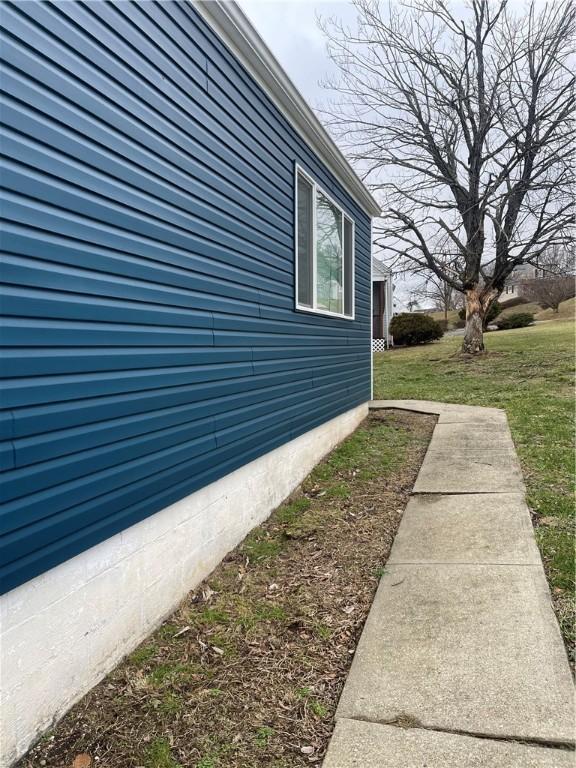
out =
[[[354,317],[354,222],[298,167],[296,307]]]

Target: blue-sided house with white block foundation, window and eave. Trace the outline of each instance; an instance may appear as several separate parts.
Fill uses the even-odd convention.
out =
[[[366,416],[379,207],[233,2],[2,22],[10,763]]]

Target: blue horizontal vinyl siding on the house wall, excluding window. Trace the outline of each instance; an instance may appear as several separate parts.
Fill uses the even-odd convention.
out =
[[[7,591],[369,399],[370,221],[190,4],[2,22]],[[354,321],[294,310],[295,163]]]

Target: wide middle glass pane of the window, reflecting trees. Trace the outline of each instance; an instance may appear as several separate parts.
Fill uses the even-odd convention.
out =
[[[317,191],[316,305],[342,313],[342,214]]]

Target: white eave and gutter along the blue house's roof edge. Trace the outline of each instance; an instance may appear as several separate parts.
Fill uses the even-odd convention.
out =
[[[231,0],[191,2],[354,200],[379,216],[380,206],[240,7]]]

